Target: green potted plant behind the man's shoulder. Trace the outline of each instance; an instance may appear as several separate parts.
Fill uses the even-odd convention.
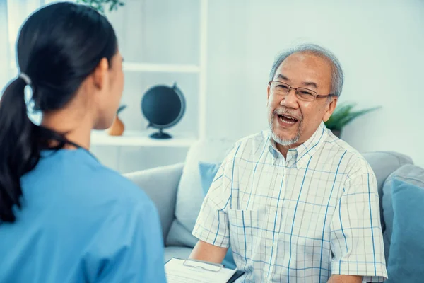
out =
[[[343,127],[348,125],[357,117],[365,115],[368,112],[374,111],[379,107],[366,108],[363,110],[353,110],[355,108],[355,103],[341,103],[338,105],[331,115],[330,119],[325,122],[325,125],[328,129],[333,132],[336,137],[341,137],[341,131]]]

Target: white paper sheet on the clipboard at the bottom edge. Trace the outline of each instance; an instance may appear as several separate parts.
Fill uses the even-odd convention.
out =
[[[168,283],[226,283],[237,271],[204,262],[189,261],[187,266],[184,261],[172,258],[165,264]]]

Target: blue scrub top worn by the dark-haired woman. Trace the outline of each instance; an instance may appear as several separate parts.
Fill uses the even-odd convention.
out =
[[[153,202],[85,149],[43,151],[0,224],[0,282],[165,282]]]

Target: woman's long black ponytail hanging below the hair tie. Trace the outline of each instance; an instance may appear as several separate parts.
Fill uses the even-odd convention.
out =
[[[61,134],[34,125],[28,117],[23,77],[12,81],[0,100],[0,223],[16,219],[13,207],[21,208],[20,178],[40,160],[40,151],[48,142],[59,141],[55,149],[66,144]]]

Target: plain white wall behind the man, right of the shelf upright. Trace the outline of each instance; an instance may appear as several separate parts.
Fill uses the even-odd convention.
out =
[[[275,54],[314,42],[341,61],[341,101],[377,112],[346,127],[360,151],[399,151],[424,166],[424,1],[210,1],[208,137],[266,127]]]

